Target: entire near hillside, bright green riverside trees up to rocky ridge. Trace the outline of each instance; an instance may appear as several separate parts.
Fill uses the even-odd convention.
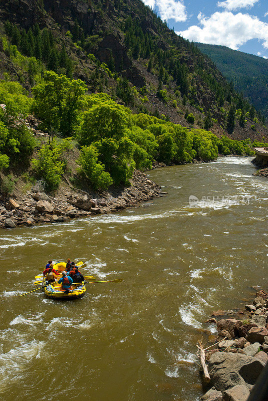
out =
[[[266,138],[263,116],[141,0],[1,1],[1,193],[19,174],[49,191],[128,185],[134,168],[249,155]]]

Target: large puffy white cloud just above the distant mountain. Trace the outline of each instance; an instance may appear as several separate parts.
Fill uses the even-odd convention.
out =
[[[237,50],[251,39],[263,42],[268,49],[268,24],[248,14],[216,12],[210,17],[198,15],[200,26],[192,25],[185,31],[177,32],[185,39],[212,45],[224,45]]]

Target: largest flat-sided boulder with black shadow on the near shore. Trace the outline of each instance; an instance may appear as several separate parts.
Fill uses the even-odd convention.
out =
[[[216,390],[224,391],[235,385],[255,384],[265,364],[240,353],[216,352],[208,362],[211,384]]]

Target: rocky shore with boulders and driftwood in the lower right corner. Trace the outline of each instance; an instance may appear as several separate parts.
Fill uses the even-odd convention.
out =
[[[218,333],[204,346],[210,389],[201,401],[247,400],[268,362],[267,319],[268,294],[261,289],[244,310],[212,313],[206,323],[216,324]]]

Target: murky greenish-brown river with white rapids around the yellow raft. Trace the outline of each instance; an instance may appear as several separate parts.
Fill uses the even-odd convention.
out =
[[[118,214],[1,231],[0,393],[5,401],[192,401],[196,342],[213,310],[267,288],[268,180],[250,157],[149,172],[168,192]],[[193,202],[189,205],[189,196]],[[82,299],[34,289],[47,263],[82,260]]]

